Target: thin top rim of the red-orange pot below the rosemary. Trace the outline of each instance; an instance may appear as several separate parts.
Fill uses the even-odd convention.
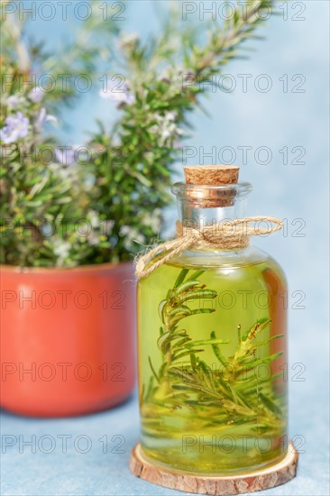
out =
[[[104,271],[105,269],[114,269],[123,265],[132,265],[132,262],[103,262],[89,265],[78,265],[78,267],[22,267],[20,265],[6,265],[0,263],[1,272],[17,272],[17,273],[56,273],[56,272],[95,272]]]

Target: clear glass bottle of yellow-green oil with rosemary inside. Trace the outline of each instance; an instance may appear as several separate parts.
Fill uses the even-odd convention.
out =
[[[179,220],[243,216],[249,183],[177,183]],[[240,474],[287,453],[286,280],[251,245],[186,250],[138,283],[142,453],[152,464]]]

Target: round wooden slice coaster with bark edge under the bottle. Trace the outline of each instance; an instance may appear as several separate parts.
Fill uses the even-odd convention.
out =
[[[262,491],[289,482],[297,473],[298,453],[292,443],[286,457],[279,464],[237,476],[205,476],[188,472],[167,470],[153,465],[142,455],[141,444],[133,447],[130,460],[131,472],[136,477],[177,491],[198,494],[242,494]]]

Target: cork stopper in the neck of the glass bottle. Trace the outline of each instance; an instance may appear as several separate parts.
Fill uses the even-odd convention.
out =
[[[237,184],[236,165],[194,165],[184,168],[186,183],[195,186],[226,186]],[[196,207],[230,207],[234,204],[234,188],[194,188],[189,191]]]

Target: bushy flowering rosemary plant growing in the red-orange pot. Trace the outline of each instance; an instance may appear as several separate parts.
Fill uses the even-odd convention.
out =
[[[130,260],[160,234],[180,143],[204,94],[201,82],[212,83],[240,56],[273,2],[238,2],[228,21],[204,28],[169,9],[160,32],[146,42],[103,22],[94,8],[73,41],[52,54],[27,41],[19,9],[5,10],[11,3],[0,7],[0,262],[72,267]],[[47,123],[78,96],[72,81],[99,80],[105,65],[100,96],[118,104],[117,122],[110,130],[99,123],[89,142],[63,151],[56,133],[45,137]],[[68,86],[43,91],[32,77],[44,74],[69,74]]]

